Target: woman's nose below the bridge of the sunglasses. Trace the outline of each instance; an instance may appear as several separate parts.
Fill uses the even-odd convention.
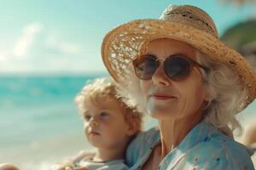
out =
[[[170,79],[169,77],[166,76],[163,64],[160,64],[160,66],[154,72],[154,75],[152,76],[152,81],[154,82],[155,85],[160,85],[160,86],[170,85]]]

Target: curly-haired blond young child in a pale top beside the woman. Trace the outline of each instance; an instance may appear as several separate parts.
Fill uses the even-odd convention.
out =
[[[118,97],[115,83],[104,78],[85,85],[75,103],[83,118],[86,139],[96,151],[81,152],[59,169],[128,169],[125,149],[141,131],[142,114],[136,108],[128,108]]]

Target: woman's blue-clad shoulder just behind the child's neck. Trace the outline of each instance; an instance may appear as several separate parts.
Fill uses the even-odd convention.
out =
[[[128,166],[131,167],[134,165],[158,142],[160,142],[160,132],[156,127],[138,133],[137,137],[131,141],[126,150],[126,163]]]

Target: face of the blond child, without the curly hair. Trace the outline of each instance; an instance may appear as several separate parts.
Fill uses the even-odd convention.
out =
[[[124,145],[131,135],[118,101],[106,99],[84,105],[84,133],[96,148],[112,149]]]

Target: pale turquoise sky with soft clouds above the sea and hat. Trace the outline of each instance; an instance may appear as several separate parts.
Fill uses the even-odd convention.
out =
[[[169,4],[192,4],[212,16],[221,36],[252,18],[255,7],[218,0],[3,0],[0,5],[0,76],[84,75],[107,72],[102,38],[113,27],[157,19]]]

